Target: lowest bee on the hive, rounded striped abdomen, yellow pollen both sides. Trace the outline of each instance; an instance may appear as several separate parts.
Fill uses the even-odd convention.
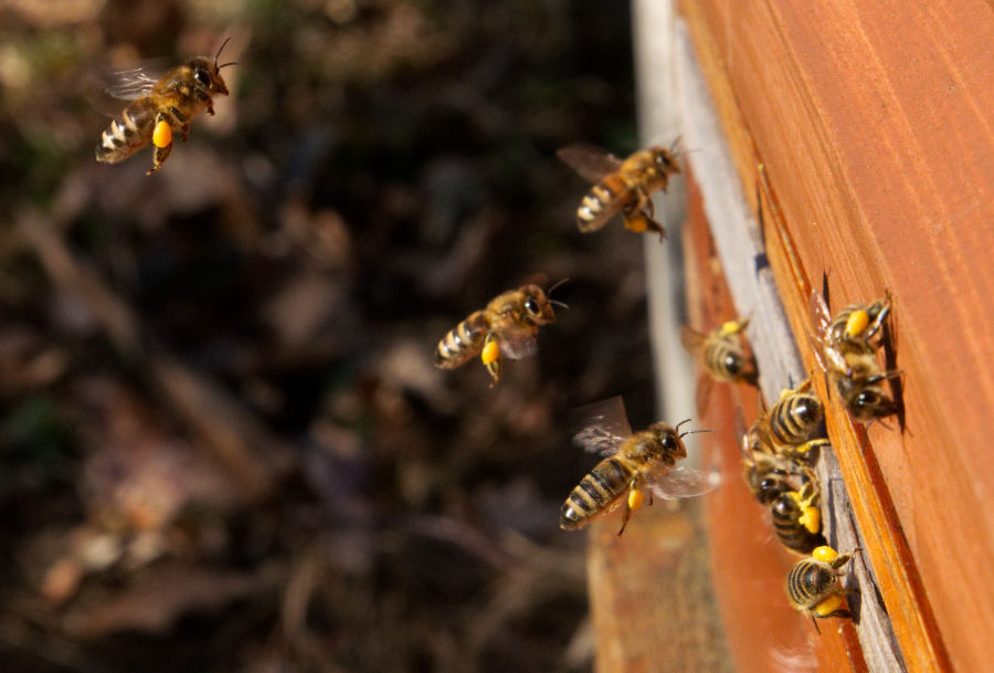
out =
[[[852,617],[846,606],[847,593],[837,582],[845,575],[840,570],[853,558],[853,551],[839,555],[828,546],[816,547],[811,558],[802,558],[791,568],[786,579],[787,599],[791,606],[812,619]]]

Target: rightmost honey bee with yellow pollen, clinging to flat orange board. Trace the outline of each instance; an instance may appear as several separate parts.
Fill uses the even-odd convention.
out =
[[[870,343],[890,312],[890,298],[847,306],[833,319],[824,297],[812,291],[808,308],[815,358],[853,418],[866,422],[898,413],[898,402],[884,389],[884,381],[901,372],[880,367],[879,344]]]

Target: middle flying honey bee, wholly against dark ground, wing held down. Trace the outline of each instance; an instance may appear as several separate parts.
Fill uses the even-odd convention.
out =
[[[549,288],[554,290],[557,285]],[[538,285],[522,285],[497,295],[483,311],[476,311],[446,334],[435,349],[435,367],[455,369],[477,355],[494,379],[500,379],[501,354],[518,360],[535,354],[540,325],[556,322],[552,305]]]

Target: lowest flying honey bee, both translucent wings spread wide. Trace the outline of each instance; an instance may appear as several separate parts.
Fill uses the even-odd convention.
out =
[[[691,497],[711,491],[717,484],[712,476],[676,462],[687,458],[683,438],[692,432],[664,422],[649,425],[648,430],[632,433],[621,398],[615,397],[598,404],[605,410],[591,419],[573,440],[584,449],[604,458],[590,473],[580,480],[562,504],[559,526],[564,530],[582,528],[599,515],[613,512],[624,504],[618,535],[625,532],[628,518],[645,501],[649,491],[649,504],[655,493],[672,500]]]

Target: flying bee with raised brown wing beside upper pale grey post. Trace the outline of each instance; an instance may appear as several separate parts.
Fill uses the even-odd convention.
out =
[[[648,147],[622,160],[600,148],[574,144],[556,156],[594,183],[577,209],[580,231],[596,231],[621,212],[625,227],[632,231],[654,231],[666,236],[666,230],[654,219],[651,197],[654,191],[666,191],[669,176],[680,172],[673,148]]]

